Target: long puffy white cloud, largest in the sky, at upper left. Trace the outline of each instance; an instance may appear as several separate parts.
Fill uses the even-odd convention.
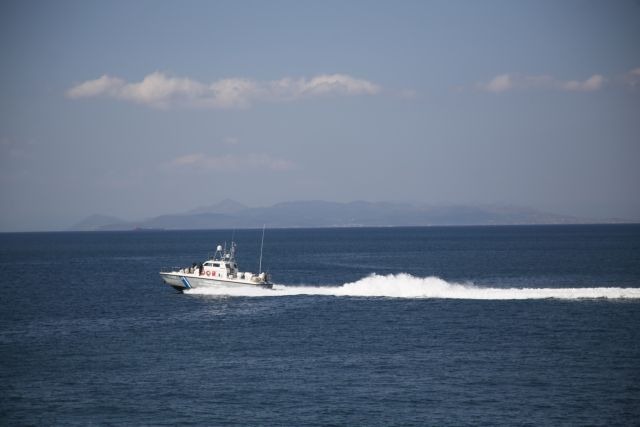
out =
[[[346,74],[323,74],[306,78],[283,78],[261,82],[229,78],[201,83],[186,77],[151,73],[140,82],[129,83],[104,75],[70,88],[66,95],[78,98],[115,98],[156,108],[247,108],[257,101],[282,102],[317,96],[375,95],[380,86]]]

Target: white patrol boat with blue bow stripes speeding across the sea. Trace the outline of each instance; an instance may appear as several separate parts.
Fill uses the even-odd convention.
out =
[[[226,246],[226,244],[225,244]],[[161,271],[162,280],[176,289],[185,291],[202,287],[229,287],[229,286],[259,286],[273,288],[269,281],[269,275],[265,272],[257,274],[240,272],[235,259],[236,244],[231,242],[231,248],[227,251],[222,245],[218,245],[211,259],[200,264],[193,263],[190,267],[177,268],[171,271]],[[262,248],[260,249],[260,267],[262,270]]]

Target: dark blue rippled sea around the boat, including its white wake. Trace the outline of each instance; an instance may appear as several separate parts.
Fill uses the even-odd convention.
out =
[[[640,226],[0,234],[2,425],[638,425]]]

